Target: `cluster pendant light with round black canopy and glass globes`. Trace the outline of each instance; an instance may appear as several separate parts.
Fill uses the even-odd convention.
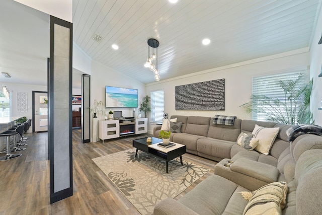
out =
[[[148,55],[144,67],[147,67],[153,71],[155,81],[160,81],[159,70],[157,69],[157,47],[159,46],[159,41],[150,38],[147,40],[147,44]]]

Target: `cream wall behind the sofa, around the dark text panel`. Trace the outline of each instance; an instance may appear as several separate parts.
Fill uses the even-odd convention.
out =
[[[239,106],[249,101],[252,94],[252,77],[283,73],[290,69],[303,69],[309,65],[308,49],[294,50],[246,62],[236,63],[219,68],[200,71],[198,73],[164,80],[146,86],[146,94],[163,89],[165,92],[165,112],[169,115],[210,116],[215,114],[237,116],[240,119],[252,119]],[[224,111],[185,111],[175,110],[175,86],[225,79]],[[155,125],[149,125],[152,133]]]

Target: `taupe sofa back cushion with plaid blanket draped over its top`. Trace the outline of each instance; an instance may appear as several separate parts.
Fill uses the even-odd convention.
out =
[[[227,141],[236,141],[240,134],[240,123],[241,119],[235,119],[232,126],[230,125],[214,125],[210,120],[209,131],[207,137],[214,139],[222,139]]]

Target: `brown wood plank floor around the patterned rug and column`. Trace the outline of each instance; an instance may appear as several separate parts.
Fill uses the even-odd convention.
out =
[[[131,149],[134,135],[82,144],[81,130],[73,130],[73,196],[50,204],[47,133],[27,133],[23,156],[0,162],[0,215],[4,214],[140,214],[96,166],[92,158]],[[1,154],[4,155],[4,154]],[[213,174],[216,162],[191,154],[183,159],[211,169],[179,194],[182,197]]]

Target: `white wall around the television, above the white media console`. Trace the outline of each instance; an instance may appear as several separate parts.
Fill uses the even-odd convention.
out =
[[[92,75],[91,75],[91,105],[94,100],[103,101],[105,106],[105,86],[124,87],[131,89],[138,89],[138,106],[145,96],[144,85],[136,80],[128,78],[118,71],[109,68],[98,61],[92,60]],[[138,113],[138,108],[136,114]],[[124,117],[133,116],[132,108],[105,108],[105,112],[121,110]],[[100,116],[103,119],[104,117]]]

